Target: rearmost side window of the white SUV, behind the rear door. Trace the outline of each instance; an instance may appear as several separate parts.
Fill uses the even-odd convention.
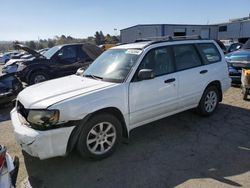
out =
[[[198,47],[208,63],[221,61],[220,53],[214,44],[198,44]]]

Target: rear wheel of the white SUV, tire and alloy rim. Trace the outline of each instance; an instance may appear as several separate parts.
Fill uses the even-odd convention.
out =
[[[216,86],[209,86],[203,93],[196,109],[201,116],[212,115],[219,104],[219,91]]]

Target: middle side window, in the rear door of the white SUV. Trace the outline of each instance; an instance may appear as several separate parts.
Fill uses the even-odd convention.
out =
[[[185,70],[200,66],[200,57],[193,45],[178,45],[173,47],[177,70]]]

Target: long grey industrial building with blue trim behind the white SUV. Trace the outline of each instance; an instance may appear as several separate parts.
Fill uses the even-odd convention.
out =
[[[121,42],[130,43],[145,38],[190,35],[200,35],[204,39],[239,40],[240,42],[245,42],[250,38],[250,15],[244,18],[231,19],[227,23],[214,25],[135,25],[121,30]]]

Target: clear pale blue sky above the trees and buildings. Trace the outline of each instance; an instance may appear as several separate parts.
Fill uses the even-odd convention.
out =
[[[137,24],[222,23],[248,16],[250,0],[5,0],[0,7],[0,41],[24,41],[117,35]]]

